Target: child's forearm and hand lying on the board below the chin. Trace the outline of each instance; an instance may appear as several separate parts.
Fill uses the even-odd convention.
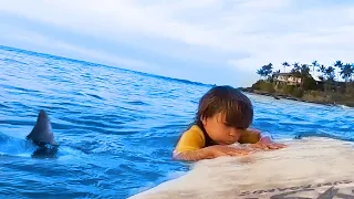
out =
[[[220,156],[246,156],[253,153],[253,150],[250,150],[250,149],[238,149],[238,148],[223,146],[223,145],[209,146],[209,147],[206,147],[205,150],[210,153],[214,156],[214,158],[220,157]]]

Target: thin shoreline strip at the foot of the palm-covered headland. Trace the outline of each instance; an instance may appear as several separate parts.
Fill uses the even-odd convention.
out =
[[[331,102],[331,101],[315,101],[315,100],[305,100],[304,97],[294,97],[291,95],[282,94],[282,93],[269,93],[264,91],[259,91],[259,90],[253,90],[251,87],[239,87],[244,93],[251,93],[251,94],[257,94],[257,95],[263,95],[263,96],[270,96],[273,97],[274,100],[290,100],[290,101],[299,101],[299,102],[305,102],[305,103],[314,103],[314,104],[321,104],[321,105],[326,105],[326,106],[339,106],[339,105],[345,105],[348,107],[354,107],[354,102],[351,103],[339,103],[339,102]]]

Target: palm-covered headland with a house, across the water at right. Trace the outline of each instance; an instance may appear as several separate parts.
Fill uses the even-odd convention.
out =
[[[344,104],[354,106],[354,64],[336,61],[333,65],[323,65],[317,61],[311,64],[292,65],[288,62],[281,63],[284,71],[291,67],[290,72],[281,73],[280,70],[273,71],[273,64],[269,63],[257,71],[260,80],[256,82],[248,92],[259,94],[292,97],[299,101],[323,103],[323,104]],[[314,72],[319,72],[319,81],[313,78]],[[311,75],[312,72],[312,75]],[[280,75],[291,76],[283,78]],[[344,82],[339,78],[342,77]],[[299,81],[296,81],[296,78]]]

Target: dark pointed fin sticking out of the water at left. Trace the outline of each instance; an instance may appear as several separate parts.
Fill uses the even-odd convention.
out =
[[[52,156],[56,153],[59,147],[59,144],[55,142],[54,134],[52,132],[50,118],[43,109],[40,109],[40,113],[37,117],[37,123],[25,138],[38,146],[38,149],[33,154],[34,156]]]

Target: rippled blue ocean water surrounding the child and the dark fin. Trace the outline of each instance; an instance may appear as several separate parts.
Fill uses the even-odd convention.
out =
[[[236,76],[237,77],[237,76]],[[188,171],[171,159],[211,85],[0,46],[1,198],[127,198]],[[252,127],[354,140],[354,109],[248,94]],[[49,114],[56,158],[24,140]]]

